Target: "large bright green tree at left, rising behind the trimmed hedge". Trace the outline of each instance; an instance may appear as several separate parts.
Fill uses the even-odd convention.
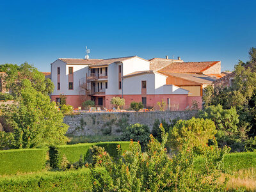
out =
[[[48,95],[37,92],[28,79],[17,97],[17,104],[2,107],[6,123],[12,127],[13,148],[41,148],[62,145],[68,125],[63,123],[63,114]]]

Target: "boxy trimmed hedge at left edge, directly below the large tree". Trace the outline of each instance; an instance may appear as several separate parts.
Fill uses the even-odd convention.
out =
[[[47,150],[42,148],[0,151],[0,175],[36,172],[45,167]]]

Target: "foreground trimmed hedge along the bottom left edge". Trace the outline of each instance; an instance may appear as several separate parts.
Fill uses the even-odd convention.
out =
[[[111,181],[103,168],[96,173],[106,175],[106,184]],[[88,168],[69,172],[35,173],[0,178],[0,191],[92,191],[93,181]]]

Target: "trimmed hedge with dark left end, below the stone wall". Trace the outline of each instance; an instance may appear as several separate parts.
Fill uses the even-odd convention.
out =
[[[75,145],[60,145],[58,147],[50,147],[50,165],[52,168],[59,167],[63,154],[65,154],[68,161],[72,163],[79,161],[80,156],[83,156],[83,158],[86,159],[86,155],[88,154],[90,147],[93,145],[104,147],[110,156],[115,157],[117,155],[116,146],[120,145],[122,151],[127,150],[129,148],[129,141],[79,143]]]

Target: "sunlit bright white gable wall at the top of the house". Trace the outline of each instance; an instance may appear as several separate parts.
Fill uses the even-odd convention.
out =
[[[150,62],[136,57],[123,61],[123,76],[141,70],[150,70]]]

